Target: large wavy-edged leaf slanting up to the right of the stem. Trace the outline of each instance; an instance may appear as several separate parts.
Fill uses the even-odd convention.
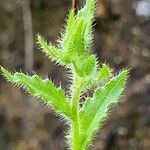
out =
[[[107,118],[109,106],[118,102],[125,86],[127,74],[127,70],[122,71],[103,87],[97,88],[93,97],[88,98],[84,103],[79,113],[81,149],[87,147],[95,132],[102,126],[103,120]]]

